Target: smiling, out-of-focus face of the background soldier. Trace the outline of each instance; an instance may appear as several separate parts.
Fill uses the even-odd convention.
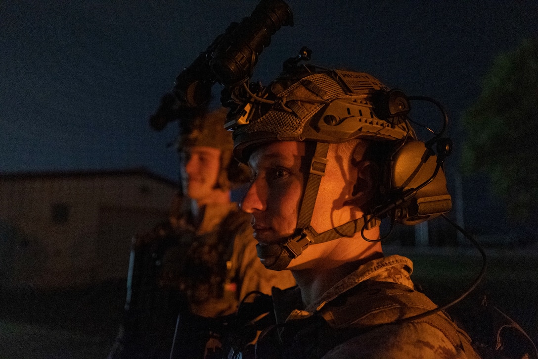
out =
[[[181,152],[181,178],[188,197],[199,204],[213,195],[221,168],[221,150],[195,146]]]

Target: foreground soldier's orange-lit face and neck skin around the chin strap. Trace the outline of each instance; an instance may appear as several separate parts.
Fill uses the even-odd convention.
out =
[[[352,197],[358,168],[350,155],[336,153],[331,147],[327,156],[310,225],[318,232],[362,216]],[[306,185],[310,158],[304,142],[272,142],[256,149],[249,158],[252,182],[240,206],[252,215],[254,238],[260,243],[279,243],[296,228],[301,198]],[[366,163],[366,162],[364,162]],[[363,180],[361,183],[365,184]],[[359,198],[363,195],[360,194]],[[320,265],[320,260],[340,256],[339,241],[329,241],[306,248],[289,269]],[[332,256],[332,257],[331,257]],[[263,262],[263,259],[262,259]]]

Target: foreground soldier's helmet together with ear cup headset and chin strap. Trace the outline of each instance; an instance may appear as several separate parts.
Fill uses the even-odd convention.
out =
[[[442,161],[431,149],[433,143],[443,143],[449,152],[449,144],[440,140],[441,134],[428,143],[417,140],[408,118],[409,100],[429,98],[408,97],[364,72],[313,66],[285,71],[249,94],[249,101],[231,111],[226,123],[233,129],[233,153],[239,161],[247,161],[254,148],[272,141],[316,144],[294,235],[278,245],[257,246],[259,257],[274,259],[266,261],[268,268],[282,270],[307,246],[363,234],[386,216],[412,225],[450,210]],[[446,125],[446,115],[444,119]],[[329,144],[352,139],[384,141],[391,148],[383,166],[381,200],[364,218],[317,233],[310,219]],[[370,240],[364,234],[363,238]]]

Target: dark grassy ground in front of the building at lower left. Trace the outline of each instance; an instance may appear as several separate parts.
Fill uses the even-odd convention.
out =
[[[124,300],[123,282],[84,291],[2,291],[0,359],[106,358]]]

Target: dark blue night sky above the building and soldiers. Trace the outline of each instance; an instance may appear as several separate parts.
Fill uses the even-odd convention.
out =
[[[1,1],[0,171],[143,166],[176,179],[167,145],[177,125],[155,132],[148,118],[182,68],[257,3]],[[273,36],[252,80],[267,84],[308,46],[314,64],[369,72],[442,102],[456,140],[494,56],[538,34],[531,0],[287,3],[295,25]]]

